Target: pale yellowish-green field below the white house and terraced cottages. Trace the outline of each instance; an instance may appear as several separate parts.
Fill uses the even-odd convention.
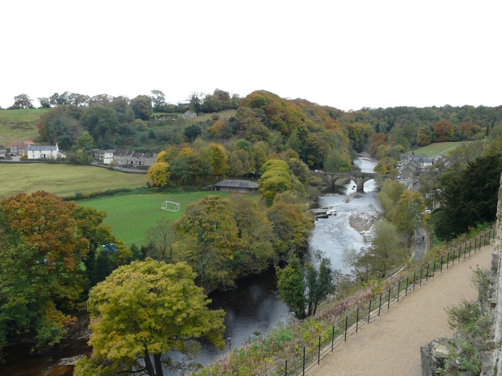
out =
[[[71,164],[0,163],[0,199],[20,192],[44,190],[54,195],[71,196],[75,192],[96,192],[116,188],[146,186],[144,174],[123,173],[93,166]]]

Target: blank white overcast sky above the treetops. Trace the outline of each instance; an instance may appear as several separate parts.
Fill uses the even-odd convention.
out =
[[[216,88],[342,110],[496,106],[501,11],[500,0],[8,0],[0,106],[153,89],[176,103]]]

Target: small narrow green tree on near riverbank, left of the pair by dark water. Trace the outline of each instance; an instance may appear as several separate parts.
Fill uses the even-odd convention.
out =
[[[300,263],[294,253],[289,256],[288,265],[276,266],[277,288],[281,299],[299,319],[305,318],[305,281]]]

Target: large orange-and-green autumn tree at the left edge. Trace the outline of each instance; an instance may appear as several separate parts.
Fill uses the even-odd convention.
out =
[[[0,347],[20,333],[38,346],[57,343],[76,321],[64,312],[84,291],[79,266],[90,244],[76,210],[43,191],[0,201]]]

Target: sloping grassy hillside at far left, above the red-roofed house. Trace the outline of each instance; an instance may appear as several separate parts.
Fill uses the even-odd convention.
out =
[[[48,109],[0,111],[0,145],[8,147],[13,141],[42,142],[37,124]]]

